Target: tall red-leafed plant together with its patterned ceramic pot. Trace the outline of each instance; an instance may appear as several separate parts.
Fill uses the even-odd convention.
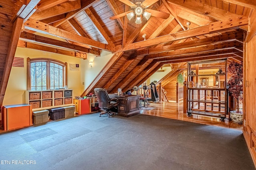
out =
[[[232,74],[227,83],[227,89],[236,99],[236,110],[230,111],[230,119],[236,123],[243,122],[243,112],[239,109],[239,102],[243,97],[243,62],[232,62],[228,65],[228,72]]]

